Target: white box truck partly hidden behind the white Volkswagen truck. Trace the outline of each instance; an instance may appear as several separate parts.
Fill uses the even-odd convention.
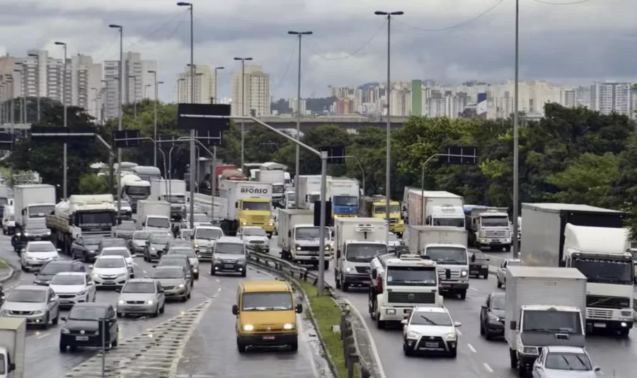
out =
[[[407,247],[436,261],[440,293],[466,298],[469,289],[469,259],[466,250],[466,230],[449,226],[408,225]]]

